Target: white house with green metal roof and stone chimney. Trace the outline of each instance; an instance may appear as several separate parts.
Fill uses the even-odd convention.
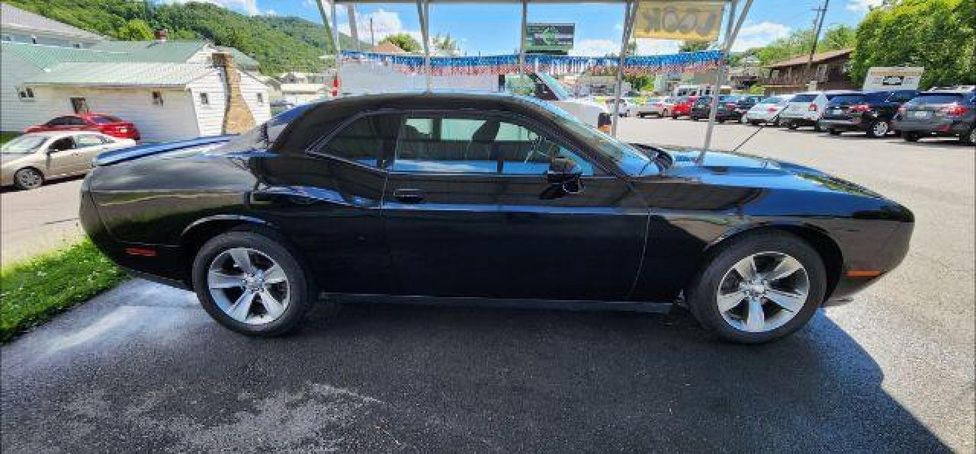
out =
[[[91,111],[136,124],[143,140],[222,132],[229,91],[213,56],[231,57],[255,121],[269,118],[257,61],[203,41],[101,41],[88,48],[0,43],[0,131],[21,132],[61,115]]]

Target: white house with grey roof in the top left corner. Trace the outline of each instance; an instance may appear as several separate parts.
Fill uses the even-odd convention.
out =
[[[102,35],[0,3],[0,40],[81,49],[105,39]]]

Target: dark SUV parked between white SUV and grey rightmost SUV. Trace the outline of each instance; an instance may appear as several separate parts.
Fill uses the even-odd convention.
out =
[[[891,119],[898,113],[898,108],[916,95],[916,90],[835,94],[820,118],[820,128],[832,135],[864,131],[869,137],[883,137],[892,131]]]

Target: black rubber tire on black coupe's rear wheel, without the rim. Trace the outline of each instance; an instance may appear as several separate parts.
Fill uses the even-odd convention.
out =
[[[211,262],[217,256],[233,247],[248,247],[264,253],[282,268],[290,285],[289,302],[277,319],[249,324],[238,322],[224,313],[210,293],[207,273]],[[203,309],[217,322],[241,334],[257,337],[272,337],[286,334],[302,322],[305,313],[316,302],[318,288],[311,276],[300,265],[296,255],[279,241],[257,232],[228,232],[208,241],[200,247],[193,260],[193,290],[203,305]]]

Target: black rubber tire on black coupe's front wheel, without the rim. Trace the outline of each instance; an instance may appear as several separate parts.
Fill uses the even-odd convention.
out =
[[[809,292],[793,319],[764,332],[740,330],[726,322],[718,310],[716,294],[723,277],[733,265],[760,252],[781,252],[793,256],[807,272]],[[802,239],[786,232],[762,231],[733,238],[708,254],[705,268],[685,288],[689,310],[702,325],[730,342],[757,344],[783,338],[813,317],[827,291],[827,272],[817,251]]]

